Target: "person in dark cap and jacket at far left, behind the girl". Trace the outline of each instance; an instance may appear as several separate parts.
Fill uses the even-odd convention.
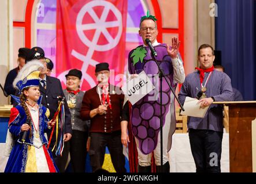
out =
[[[29,48],[25,48],[25,47],[18,49],[18,59],[17,59],[18,66],[16,68],[14,68],[13,70],[11,70],[5,79],[4,89],[8,95],[15,94],[15,89],[12,84],[13,84],[14,79],[18,75],[18,72],[21,70],[21,68],[25,64],[25,58],[27,56],[28,51],[29,51]],[[13,104],[13,99],[11,99],[11,104]]]

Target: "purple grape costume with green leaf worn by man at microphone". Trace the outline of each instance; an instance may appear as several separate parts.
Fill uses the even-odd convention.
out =
[[[164,71],[173,91],[175,91],[177,82],[173,77],[172,59],[168,55],[166,44],[159,44],[154,48],[157,52],[156,59],[159,62],[159,66]],[[139,146],[137,145],[139,150],[145,155],[150,154],[155,150],[158,143],[158,133],[160,131],[160,117],[162,116],[163,129],[169,129],[168,135],[163,134],[163,136],[168,136],[167,151],[169,151],[172,144],[172,135],[176,129],[174,95],[169,89],[168,83],[166,83],[163,78],[162,114],[160,114],[160,94],[158,94],[160,91],[160,82],[158,67],[151,57],[149,47],[140,45],[129,53],[128,70],[129,74],[135,74],[136,70],[144,70],[155,86],[153,91],[132,106],[132,133],[139,140]]]

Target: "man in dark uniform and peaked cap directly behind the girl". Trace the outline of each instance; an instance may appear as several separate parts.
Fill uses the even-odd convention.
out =
[[[51,120],[54,117],[54,113],[58,109],[58,101],[59,97],[65,97],[64,92],[62,90],[60,79],[57,79],[52,76],[47,76],[47,64],[46,59],[44,57],[44,51],[40,47],[33,47],[29,50],[27,57],[25,59],[25,63],[29,63],[32,60],[39,60],[44,68],[40,70],[40,94],[42,95],[42,102],[41,104],[48,108],[50,110],[50,116],[49,119]],[[68,153],[69,153],[69,147],[66,143],[69,141],[72,137],[72,127],[71,127],[71,113],[68,108],[68,104],[66,102],[66,99],[64,99],[64,109],[65,109],[65,122],[64,122],[64,150],[62,151],[62,156],[55,154],[55,149],[53,151],[53,157],[55,160],[55,163],[57,164],[60,172],[65,171],[66,162],[68,160]],[[60,132],[60,128],[58,130]],[[53,137],[51,139],[50,143],[50,150],[53,150],[55,140],[56,140],[56,133],[54,130]],[[58,134],[59,136],[61,133]],[[50,137],[50,133],[47,133],[48,138]],[[61,137],[58,136],[57,140],[60,140]],[[67,146],[66,146],[67,144]],[[56,146],[55,146],[56,147]]]

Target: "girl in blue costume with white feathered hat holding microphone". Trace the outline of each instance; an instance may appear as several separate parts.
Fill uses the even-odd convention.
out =
[[[5,173],[58,172],[44,137],[55,122],[48,120],[49,110],[40,105],[40,67],[43,65],[38,61],[25,64],[13,82],[20,90],[20,98],[13,96],[19,104],[11,109],[8,128],[13,137],[13,148]],[[23,137],[26,131],[27,136]]]

